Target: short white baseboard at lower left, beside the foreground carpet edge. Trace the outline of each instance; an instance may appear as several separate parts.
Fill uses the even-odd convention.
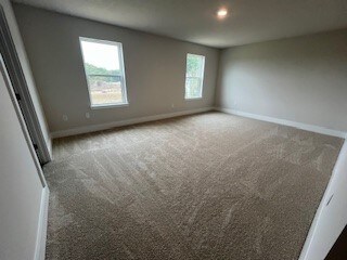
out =
[[[48,224],[48,205],[49,205],[50,190],[46,185],[42,191],[39,225],[35,248],[35,260],[44,260],[46,258],[46,242],[47,242],[47,224]]]

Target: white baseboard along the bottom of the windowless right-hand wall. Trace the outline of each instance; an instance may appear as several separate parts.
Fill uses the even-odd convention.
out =
[[[322,133],[326,135],[332,135],[332,136],[337,136],[337,138],[343,138],[346,139],[347,133],[344,131],[337,131],[329,128],[323,128],[314,125],[308,125],[304,122],[297,122],[297,121],[291,121],[291,120],[285,120],[285,119],[280,119],[280,118],[274,118],[274,117],[268,117],[268,116],[262,116],[262,115],[256,115],[252,113],[246,113],[246,112],[241,112],[241,110],[235,110],[235,109],[229,109],[229,108],[222,108],[222,107],[215,107],[216,110],[220,110],[227,114],[232,114],[236,116],[242,116],[242,117],[248,117],[261,121],[269,121],[269,122],[275,122],[279,125],[284,125],[288,127],[294,127],[311,132],[317,132],[317,133]]]

